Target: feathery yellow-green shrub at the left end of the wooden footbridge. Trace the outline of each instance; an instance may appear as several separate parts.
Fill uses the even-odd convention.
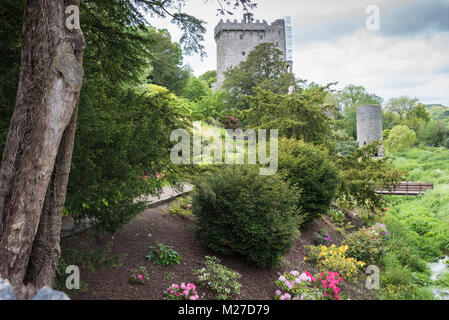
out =
[[[352,152],[349,156],[337,156],[335,163],[341,179],[339,202],[343,208],[356,205],[375,211],[385,207],[385,199],[375,193],[375,187],[397,184],[404,172],[391,167],[388,157],[375,159],[379,142],[374,142]]]

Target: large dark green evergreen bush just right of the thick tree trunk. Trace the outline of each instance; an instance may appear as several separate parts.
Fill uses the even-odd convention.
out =
[[[166,89],[85,84],[66,206],[76,219],[95,218],[114,232],[145,208],[133,199],[182,179],[183,168],[169,157],[170,132],[185,126],[184,113]]]

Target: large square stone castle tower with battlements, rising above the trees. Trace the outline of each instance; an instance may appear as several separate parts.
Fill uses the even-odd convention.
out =
[[[286,22],[287,21],[287,22]],[[224,72],[246,60],[248,54],[261,43],[273,43],[282,51],[287,62],[288,72],[292,72],[291,26],[290,19],[278,19],[272,24],[265,20],[254,21],[249,14],[241,22],[223,20],[215,27],[217,43],[217,83],[220,87],[224,81]]]

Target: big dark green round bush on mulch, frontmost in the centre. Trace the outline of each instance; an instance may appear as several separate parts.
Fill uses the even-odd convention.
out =
[[[224,166],[195,183],[196,235],[208,248],[261,266],[289,252],[299,224],[298,191],[256,166]],[[296,215],[296,217],[295,217]]]

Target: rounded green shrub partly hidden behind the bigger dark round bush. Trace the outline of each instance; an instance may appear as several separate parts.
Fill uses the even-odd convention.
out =
[[[339,178],[325,151],[295,139],[280,139],[279,169],[287,181],[299,188],[298,208],[305,222],[326,213],[334,199]]]

